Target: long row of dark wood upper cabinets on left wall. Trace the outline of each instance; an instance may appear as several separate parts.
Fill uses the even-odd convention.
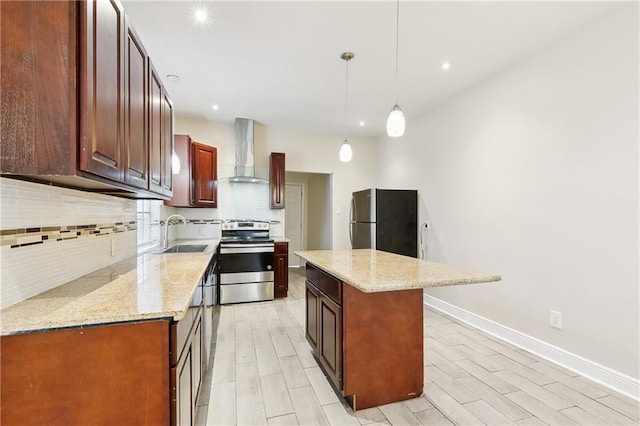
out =
[[[173,106],[128,24],[118,0],[0,2],[3,176],[171,196]]]

